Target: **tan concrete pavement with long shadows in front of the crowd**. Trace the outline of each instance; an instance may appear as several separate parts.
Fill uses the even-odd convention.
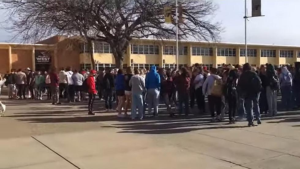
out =
[[[118,119],[96,102],[96,116],[82,103],[7,100],[0,118],[3,168],[207,168],[296,169],[300,166],[300,112],[247,122],[211,123],[209,116],[143,121]]]

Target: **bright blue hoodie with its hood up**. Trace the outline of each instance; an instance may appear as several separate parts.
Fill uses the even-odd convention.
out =
[[[154,65],[147,74],[145,83],[146,89],[160,89],[160,77],[159,74],[156,73],[156,67]]]

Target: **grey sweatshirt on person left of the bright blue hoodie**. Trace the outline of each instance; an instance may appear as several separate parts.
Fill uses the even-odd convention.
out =
[[[143,94],[145,90],[145,79],[141,75],[133,75],[129,80],[132,94]]]

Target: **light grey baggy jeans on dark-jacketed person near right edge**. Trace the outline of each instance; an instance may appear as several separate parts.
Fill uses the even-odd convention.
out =
[[[267,102],[269,108],[269,116],[275,116],[277,114],[277,91],[271,89],[270,86],[266,88]]]

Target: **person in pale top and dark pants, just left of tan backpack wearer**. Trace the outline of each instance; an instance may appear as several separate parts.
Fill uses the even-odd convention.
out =
[[[195,95],[197,100],[197,106],[199,111],[202,111],[202,114],[205,113],[205,100],[204,94],[202,93],[202,86],[206,79],[206,74],[203,71],[202,67],[198,67],[198,75],[194,79],[194,86],[195,86]]]

